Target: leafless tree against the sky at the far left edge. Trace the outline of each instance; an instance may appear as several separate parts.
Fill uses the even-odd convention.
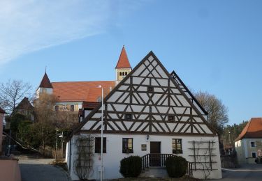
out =
[[[25,96],[29,97],[31,85],[21,80],[8,80],[6,84],[0,84],[0,106],[11,115],[19,102]]]

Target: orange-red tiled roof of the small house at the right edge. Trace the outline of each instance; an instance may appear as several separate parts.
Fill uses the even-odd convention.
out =
[[[262,139],[262,118],[251,118],[235,141],[254,138]]]

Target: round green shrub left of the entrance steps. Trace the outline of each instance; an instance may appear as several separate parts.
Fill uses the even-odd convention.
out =
[[[120,173],[124,178],[137,178],[142,171],[142,159],[138,156],[124,158],[120,162]]]

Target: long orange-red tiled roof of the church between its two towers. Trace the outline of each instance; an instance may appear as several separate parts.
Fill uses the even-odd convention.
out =
[[[115,81],[65,81],[52,82],[53,94],[59,102],[97,102],[101,97],[101,88],[104,89],[104,96],[115,88]]]

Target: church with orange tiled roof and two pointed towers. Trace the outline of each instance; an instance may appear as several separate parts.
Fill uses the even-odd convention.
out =
[[[94,109],[94,105],[90,107],[89,104],[101,102],[101,88],[99,87],[103,87],[104,96],[107,95],[131,70],[126,50],[123,47],[115,68],[115,81],[50,82],[48,74],[45,72],[41,84],[36,91],[36,98],[41,93],[55,95],[58,101],[55,104],[54,111],[69,111],[75,113],[76,118],[79,117],[79,120],[82,120],[82,118],[85,118]]]

